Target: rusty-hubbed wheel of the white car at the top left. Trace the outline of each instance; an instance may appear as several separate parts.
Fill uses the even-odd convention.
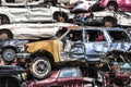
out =
[[[55,13],[53,14],[53,20],[56,22],[64,23],[64,22],[68,22],[68,15],[64,14],[64,13]]]

